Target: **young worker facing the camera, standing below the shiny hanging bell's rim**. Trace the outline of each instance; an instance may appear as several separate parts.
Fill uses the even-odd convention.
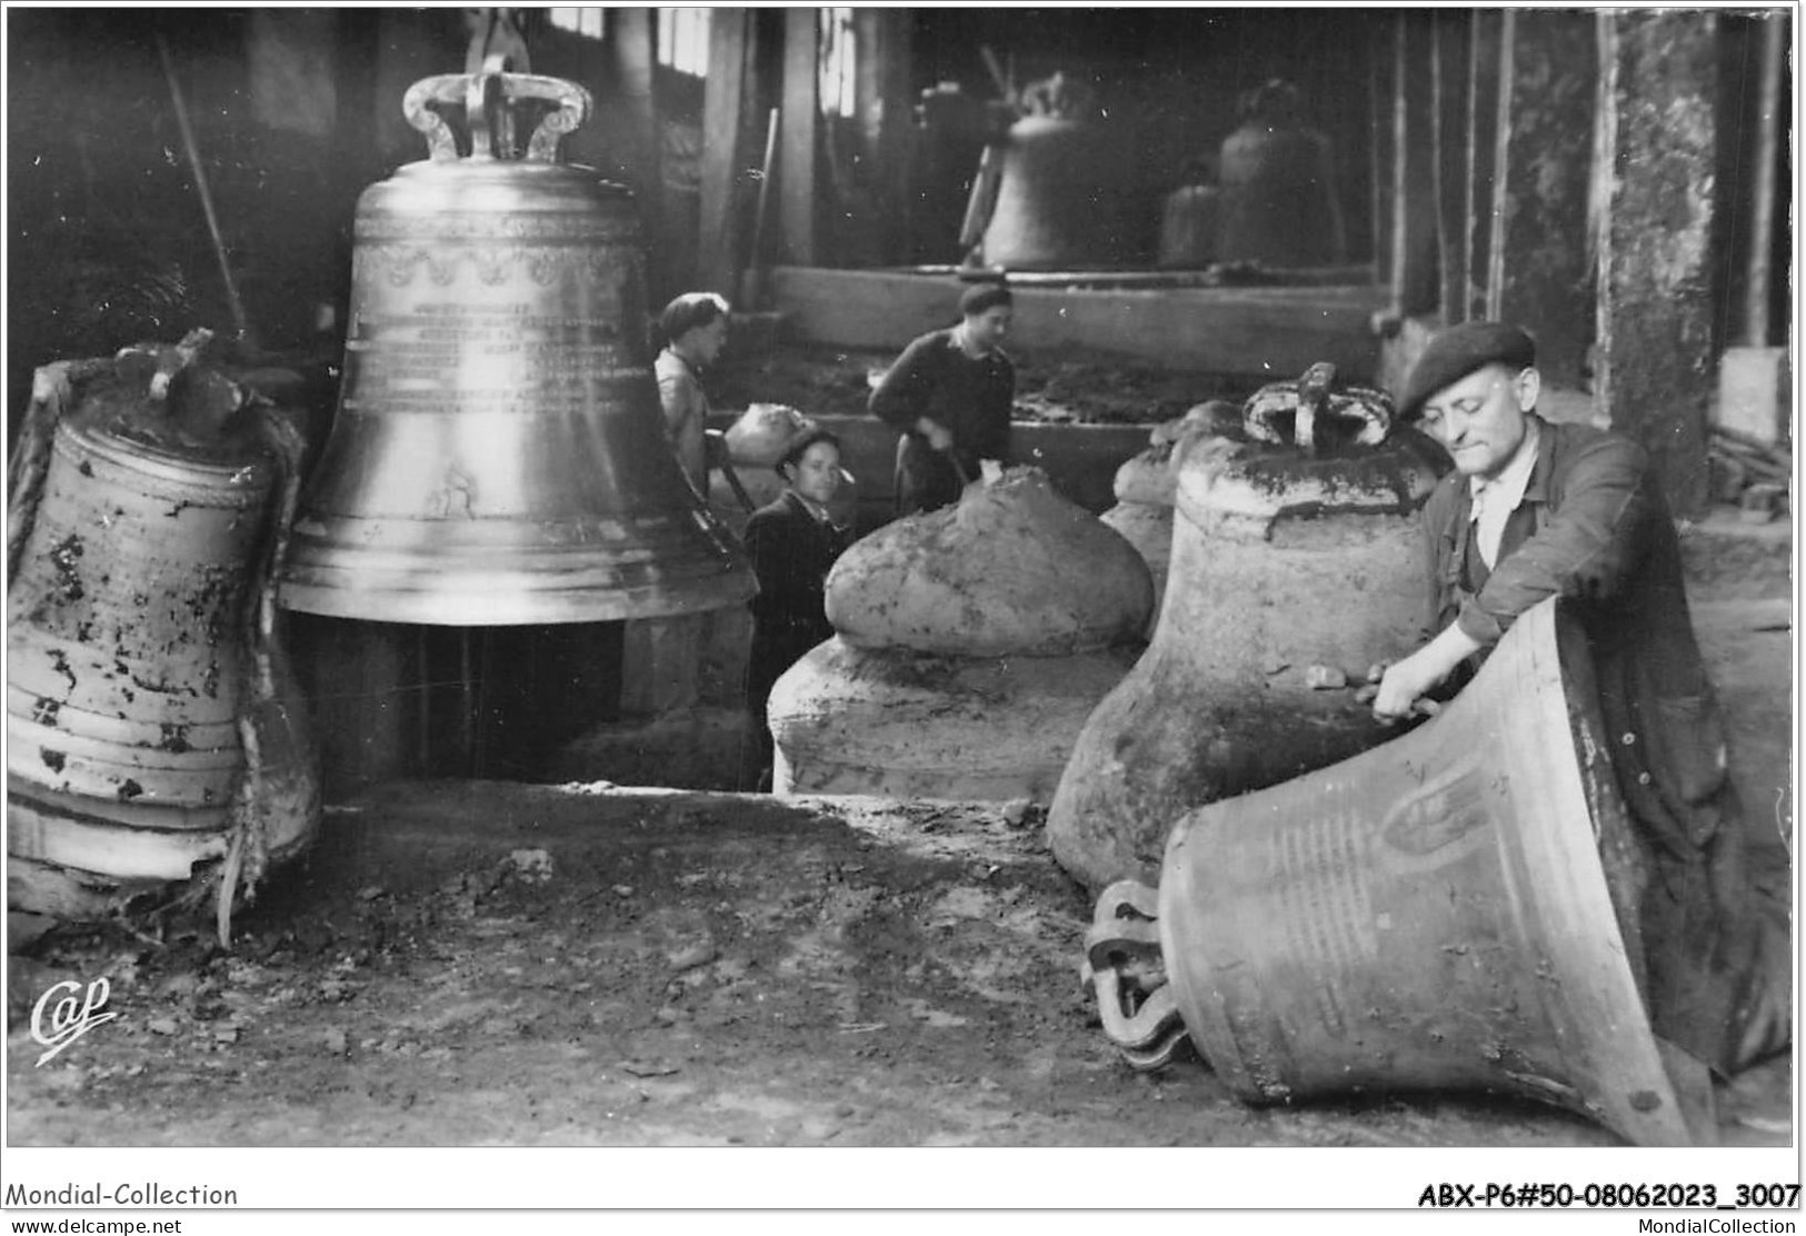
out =
[[[753,651],[746,667],[748,759],[740,786],[771,788],[771,726],[766,701],[771,685],[804,652],[833,638],[825,584],[849,529],[829,515],[840,492],[840,439],[825,428],[802,432],[777,463],[784,493],[746,520],[746,553],[753,560]]]

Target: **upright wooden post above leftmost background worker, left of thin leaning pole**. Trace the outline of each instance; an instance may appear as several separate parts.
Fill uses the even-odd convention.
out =
[[[751,257],[744,253],[740,226],[749,40],[748,9],[712,11],[703,94],[703,202],[695,251],[699,286],[722,296],[739,295],[739,275]]]

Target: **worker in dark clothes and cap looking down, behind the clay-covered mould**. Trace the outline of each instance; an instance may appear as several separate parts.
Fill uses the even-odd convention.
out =
[[[959,325],[912,342],[872,390],[872,416],[896,426],[898,515],[959,501],[979,461],[1010,457],[1015,365],[1002,351],[1013,296],[975,284],[959,298]]]

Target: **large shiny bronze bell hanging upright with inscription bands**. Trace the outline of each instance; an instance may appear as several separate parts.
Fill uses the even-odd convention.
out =
[[[471,152],[432,103],[466,103]],[[497,157],[511,99],[554,103]],[[746,602],[753,575],[665,441],[632,195],[556,161],[591,112],[556,78],[426,78],[430,157],[358,201],[338,417],[282,604],[459,627]]]

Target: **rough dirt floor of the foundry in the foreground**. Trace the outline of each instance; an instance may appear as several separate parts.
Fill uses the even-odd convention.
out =
[[[1790,605],[1701,605],[1752,837],[1784,884]],[[1777,799],[1779,795],[1779,799]],[[1078,983],[1038,811],[417,782],[334,808],[240,914],[9,958],[18,1146],[1611,1146],[1483,1095],[1255,1110],[1141,1075]],[[114,1023],[38,1068],[54,981]],[[1721,1135],[1790,1140],[1786,1061]]]

